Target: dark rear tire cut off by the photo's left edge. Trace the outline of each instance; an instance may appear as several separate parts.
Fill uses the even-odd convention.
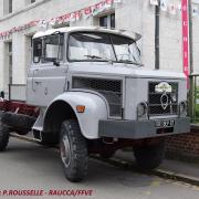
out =
[[[0,121],[0,151],[6,150],[9,143],[9,128]]]

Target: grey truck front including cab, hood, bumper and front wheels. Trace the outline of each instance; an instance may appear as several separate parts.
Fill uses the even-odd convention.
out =
[[[163,160],[165,137],[190,130],[185,75],[145,70],[139,39],[102,28],[33,36],[27,104],[40,113],[31,130],[43,144],[59,144],[71,181],[86,176],[90,154],[109,158],[127,146],[142,168],[154,169]]]

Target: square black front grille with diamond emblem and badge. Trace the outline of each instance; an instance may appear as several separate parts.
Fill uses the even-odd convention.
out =
[[[160,82],[149,82],[148,85],[148,112],[149,116],[160,116],[160,115],[177,115],[178,114],[178,83],[168,82],[172,87],[172,93],[166,93],[168,96],[168,106],[164,109],[161,105],[163,93],[156,93],[155,87]],[[176,102],[172,102],[171,95],[176,94]]]

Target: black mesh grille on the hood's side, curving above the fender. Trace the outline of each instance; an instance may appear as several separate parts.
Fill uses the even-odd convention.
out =
[[[109,116],[122,116],[122,81],[74,76],[72,88],[92,90],[102,94],[109,105]]]

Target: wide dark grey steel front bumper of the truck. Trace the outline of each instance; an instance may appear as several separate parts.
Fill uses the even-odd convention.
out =
[[[98,134],[101,137],[143,139],[190,132],[189,117],[172,119],[175,126],[170,128],[157,128],[155,121],[100,121]]]

